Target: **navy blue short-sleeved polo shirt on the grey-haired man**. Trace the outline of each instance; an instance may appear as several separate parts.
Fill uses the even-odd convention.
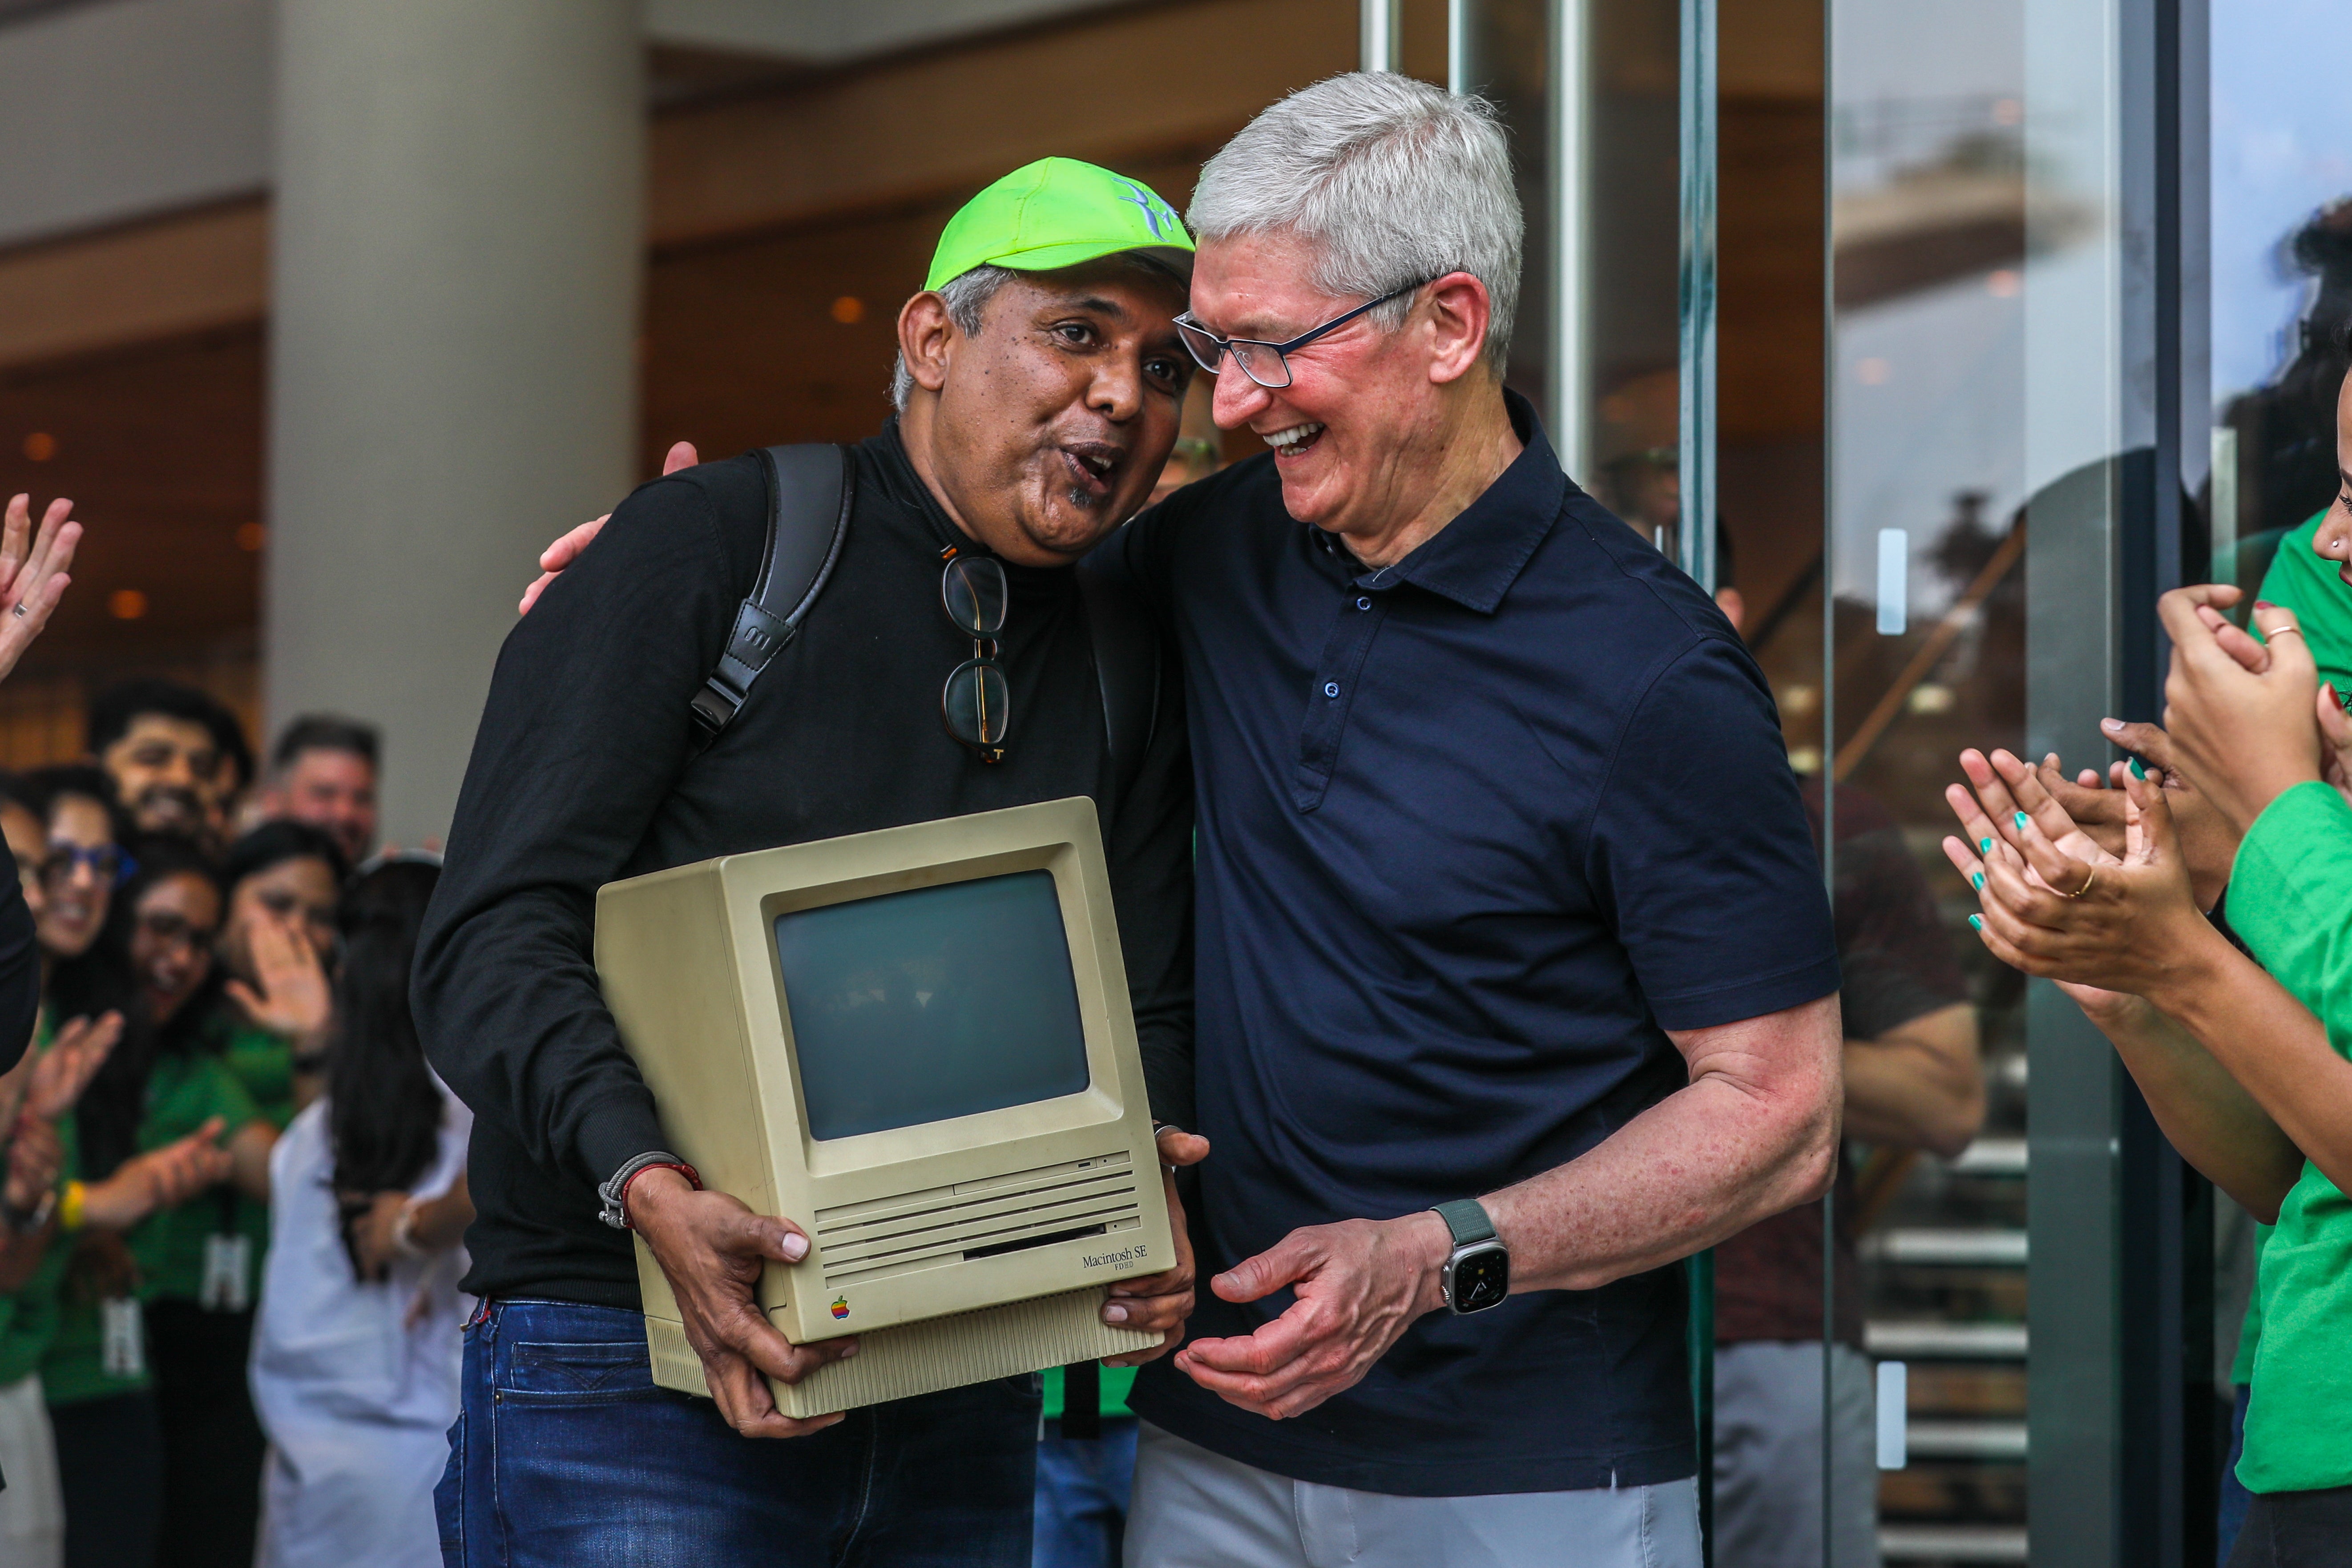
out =
[[[1105,550],[1171,623],[1200,783],[1195,1335],[1301,1225],[1566,1164],[1686,1081],[1668,1030],[1837,990],[1771,691],[1705,592],[1526,451],[1367,571],[1272,456]],[[1284,1422],[1169,1361],[1134,1408],[1301,1481],[1446,1497],[1693,1474],[1682,1269],[1421,1319]]]

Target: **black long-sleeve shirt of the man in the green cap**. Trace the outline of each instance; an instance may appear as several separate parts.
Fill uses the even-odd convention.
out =
[[[414,980],[426,1053],[475,1112],[477,1295],[637,1307],[628,1237],[597,1220],[595,1185],[668,1140],[597,990],[595,893],[619,877],[1089,795],[1152,1081],[1190,1058],[1192,778],[1174,658],[1152,745],[1115,799],[1075,574],[1007,562],[1011,724],[1004,759],[983,764],[938,719],[948,672],[971,658],[938,578],[950,545],[985,550],[941,512],[896,425],[856,458],[833,578],[703,755],[689,757],[687,703],[760,569],[757,454],[637,489],[499,654]]]

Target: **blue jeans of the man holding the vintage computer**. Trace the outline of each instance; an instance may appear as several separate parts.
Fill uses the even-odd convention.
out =
[[[1028,1568],[1037,1380],[851,1410],[746,1439],[654,1387],[644,1319],[489,1302],[466,1326],[447,1568]]]

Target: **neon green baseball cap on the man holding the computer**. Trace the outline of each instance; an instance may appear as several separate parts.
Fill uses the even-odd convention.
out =
[[[948,219],[922,287],[936,289],[976,266],[1051,273],[1122,252],[1192,275],[1192,235],[1150,186],[1075,158],[1040,158]]]

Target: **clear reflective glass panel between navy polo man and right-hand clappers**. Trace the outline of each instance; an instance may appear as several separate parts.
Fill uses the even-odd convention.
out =
[[[1877,1378],[1903,1401],[1875,1455],[1889,1563],[2025,1559],[2025,985],[1938,849],[1955,755],[2027,729],[2023,26],[2023,0],[1835,0],[1830,26],[1828,717],[1783,705],[1837,785],[1837,1232],[1863,1347],[1903,1368]],[[1983,1074],[1973,1143],[1966,1095],[1938,1084],[1955,1070]]]

